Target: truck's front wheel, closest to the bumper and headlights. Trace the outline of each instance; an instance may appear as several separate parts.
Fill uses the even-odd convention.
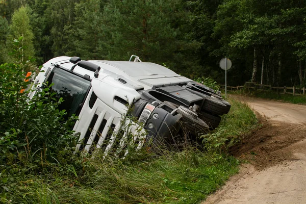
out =
[[[180,106],[177,108],[177,113],[183,115],[181,121],[183,123],[183,129],[185,128],[187,132],[192,135],[197,135],[198,133],[207,133],[209,126],[200,118],[197,114],[186,107]]]

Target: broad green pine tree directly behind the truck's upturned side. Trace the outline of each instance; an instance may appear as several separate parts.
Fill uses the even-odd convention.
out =
[[[190,59],[184,52],[193,44],[181,35],[181,9],[180,0],[111,0],[104,8],[100,49],[106,59],[129,60],[135,54],[143,61],[188,72],[185,63]]]

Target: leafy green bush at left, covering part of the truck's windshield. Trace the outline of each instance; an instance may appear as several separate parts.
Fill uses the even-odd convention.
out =
[[[0,72],[0,169],[18,165],[27,171],[56,162],[59,151],[75,145],[77,138],[69,131],[75,118],[63,121],[66,113],[57,109],[62,99],[47,92],[50,86],[29,101],[29,90],[20,92],[30,86],[21,65],[5,63]]]

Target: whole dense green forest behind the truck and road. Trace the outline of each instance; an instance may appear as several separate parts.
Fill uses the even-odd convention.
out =
[[[306,84],[304,0],[0,0],[0,64],[21,39],[32,69],[57,56],[165,65],[228,85]]]

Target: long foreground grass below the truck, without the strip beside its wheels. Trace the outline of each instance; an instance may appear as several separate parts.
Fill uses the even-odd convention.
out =
[[[79,158],[80,165],[6,179],[1,201],[14,203],[195,203],[238,171],[238,160],[195,149],[145,161]],[[61,171],[59,171],[61,170]],[[69,173],[69,172],[75,173]],[[55,172],[60,174],[55,175]]]

